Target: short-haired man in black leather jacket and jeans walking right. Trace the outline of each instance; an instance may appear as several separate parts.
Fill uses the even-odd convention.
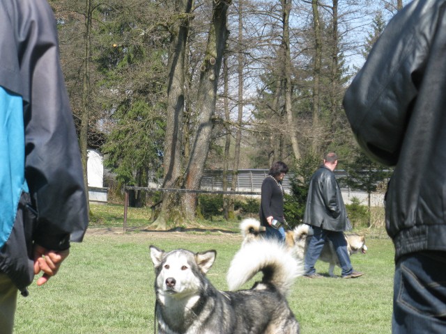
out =
[[[332,241],[342,269],[342,278],[362,276],[360,271],[353,270],[347,250],[344,231],[351,229],[347,218],[346,207],[342,199],[341,189],[334,177],[337,166],[337,155],[330,152],[325,155],[323,165],[314,172],[309,182],[307,205],[305,206],[304,223],[311,226],[309,243],[304,259],[304,276],[308,278],[322,277],[316,273],[314,265],[321,255],[326,239]]]

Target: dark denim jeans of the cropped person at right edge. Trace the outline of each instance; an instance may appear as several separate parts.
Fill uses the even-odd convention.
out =
[[[446,333],[446,252],[418,252],[397,260],[392,333]]]

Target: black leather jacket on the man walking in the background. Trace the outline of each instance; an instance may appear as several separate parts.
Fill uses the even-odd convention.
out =
[[[334,173],[325,166],[318,168],[310,180],[304,223],[331,231],[349,227],[341,189]]]

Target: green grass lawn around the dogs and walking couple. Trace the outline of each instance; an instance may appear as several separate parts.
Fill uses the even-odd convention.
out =
[[[114,219],[112,214],[98,225],[107,227],[108,219]],[[352,257],[363,277],[295,281],[288,300],[302,334],[390,333],[393,246],[390,239],[366,240],[368,253]],[[226,271],[240,242],[237,233],[123,233],[92,226],[82,244],[72,244],[57,276],[43,287],[33,283],[29,297],[18,297],[15,333],[153,333],[154,275],[148,246],[217,250],[208,278],[226,289]],[[318,262],[317,269],[327,273],[328,264]],[[334,273],[339,275],[340,269]]]

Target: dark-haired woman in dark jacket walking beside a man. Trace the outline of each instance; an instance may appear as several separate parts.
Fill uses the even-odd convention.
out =
[[[266,228],[265,237],[285,241],[284,189],[282,181],[288,166],[282,161],[272,164],[261,187],[260,223]]]

